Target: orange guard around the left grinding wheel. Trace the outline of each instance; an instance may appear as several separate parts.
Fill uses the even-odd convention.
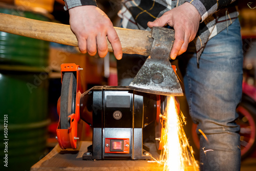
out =
[[[77,135],[81,135],[80,132],[82,130],[77,130],[78,122],[80,120],[80,96],[83,93],[81,82],[80,82],[80,67],[75,63],[64,63],[61,65],[61,83],[62,83],[62,76],[65,72],[76,72],[76,111],[75,114],[71,114],[70,117],[70,127],[69,129],[59,129],[59,123],[57,128],[57,138],[60,148],[73,148],[76,149],[77,147]],[[60,102],[60,100],[58,100]],[[60,108],[60,105],[58,105]],[[58,109],[58,111],[60,111]],[[60,122],[60,121],[59,121]],[[79,134],[77,133],[79,132]]]

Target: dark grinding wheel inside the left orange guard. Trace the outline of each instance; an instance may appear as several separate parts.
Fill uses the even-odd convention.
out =
[[[73,72],[65,72],[62,77],[60,95],[60,129],[69,129],[69,115],[75,113],[76,108],[76,77]]]

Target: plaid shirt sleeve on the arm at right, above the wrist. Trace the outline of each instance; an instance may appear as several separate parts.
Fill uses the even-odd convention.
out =
[[[236,0],[186,0],[186,2],[194,5],[201,15],[202,22],[209,15],[214,14],[217,10],[228,6]]]

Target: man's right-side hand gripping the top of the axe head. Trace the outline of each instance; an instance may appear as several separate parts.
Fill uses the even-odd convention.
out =
[[[184,3],[165,12],[154,22],[148,22],[147,26],[150,28],[165,25],[174,27],[175,40],[170,57],[175,59],[178,55],[186,52],[188,43],[196,37],[200,20],[201,16],[197,9],[192,4]]]

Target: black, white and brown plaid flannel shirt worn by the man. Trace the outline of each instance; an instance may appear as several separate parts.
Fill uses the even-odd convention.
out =
[[[150,30],[147,22],[153,22],[168,10],[185,2],[196,7],[201,15],[201,23],[194,42],[197,57],[204,50],[207,41],[227,28],[238,17],[236,0],[124,0],[118,15],[122,18],[122,27]],[[65,9],[82,5],[96,5],[95,0],[65,0]]]

